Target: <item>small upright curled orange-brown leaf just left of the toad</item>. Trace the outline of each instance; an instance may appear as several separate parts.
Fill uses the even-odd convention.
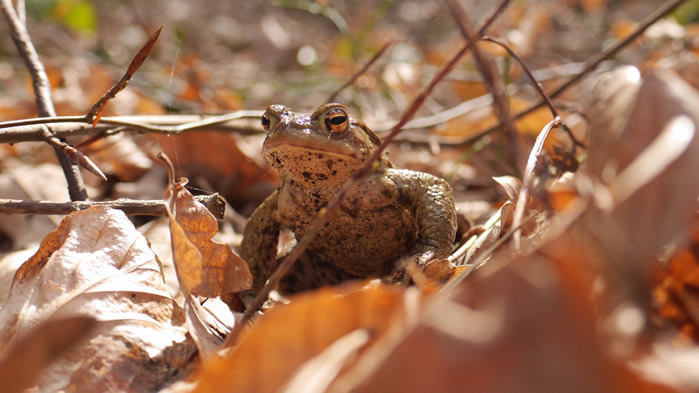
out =
[[[215,297],[249,289],[252,275],[248,264],[227,245],[211,240],[218,231],[214,216],[183,182],[172,185],[168,194],[172,256],[185,296]]]

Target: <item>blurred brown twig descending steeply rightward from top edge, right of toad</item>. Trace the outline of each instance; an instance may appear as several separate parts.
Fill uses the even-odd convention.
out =
[[[483,57],[480,49],[478,49],[478,46],[472,37],[472,34],[468,31],[468,27],[466,27],[466,14],[464,13],[463,8],[461,8],[459,3],[455,0],[448,0],[447,3],[449,4],[449,8],[452,10],[456,23],[459,25],[461,35],[464,36],[466,42],[469,44],[469,46],[471,46],[471,53],[473,58],[476,60],[478,69],[481,71],[481,75],[483,75],[483,81],[488,87],[490,93],[493,95],[493,106],[495,108],[495,112],[498,114],[501,122],[505,124],[505,136],[510,147],[510,153],[512,154],[512,161],[515,168],[519,169],[519,143],[517,142],[517,131],[512,118],[510,117],[507,97],[505,97],[505,89],[503,88],[501,81],[499,79],[496,80],[496,78],[493,76],[493,67],[491,66],[490,62]],[[482,36],[483,34],[480,35]]]

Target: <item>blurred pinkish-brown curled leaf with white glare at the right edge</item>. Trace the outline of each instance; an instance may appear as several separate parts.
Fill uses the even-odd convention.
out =
[[[693,220],[699,195],[699,94],[663,71],[648,73],[640,87],[628,89],[636,92],[635,100],[627,98],[631,109],[607,109],[628,113],[623,129],[614,128],[618,121],[593,127],[588,173],[608,188],[596,191],[603,211],[589,214],[586,223],[607,258],[647,266]]]

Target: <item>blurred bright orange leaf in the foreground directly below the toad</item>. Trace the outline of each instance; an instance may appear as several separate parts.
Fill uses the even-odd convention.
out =
[[[346,357],[363,351],[365,342],[370,345],[392,325],[403,326],[406,311],[419,308],[419,298],[413,295],[415,289],[383,285],[360,289],[350,284],[292,297],[290,304],[261,316],[233,351],[205,362],[196,392],[276,392],[291,380],[293,386],[308,386],[312,381],[299,381],[310,368],[304,363],[320,358],[327,364],[352,363]],[[371,338],[352,334],[358,331]],[[341,338],[349,348],[329,349]],[[331,375],[308,375],[334,379],[339,367],[327,367],[327,372]]]

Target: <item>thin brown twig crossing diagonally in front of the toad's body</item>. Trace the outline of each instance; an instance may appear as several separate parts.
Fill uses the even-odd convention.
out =
[[[495,11],[494,15],[499,15],[499,13],[505,8],[505,5],[507,5],[508,3],[509,0],[504,0],[501,6],[498,7],[498,9]],[[483,33],[481,33],[481,31],[484,32],[494,20],[494,17],[489,18],[486,24],[479,30],[479,34],[482,35]],[[396,135],[398,135],[401,132],[401,128],[403,127],[403,125],[405,125],[405,123],[408,122],[408,120],[415,114],[415,112],[417,112],[422,103],[427,99],[432,90],[435,88],[437,83],[439,83],[439,81],[441,81],[444,78],[444,76],[446,76],[452,70],[452,68],[454,68],[454,66],[461,59],[461,57],[463,57],[468,52],[470,46],[471,45],[465,45],[451,58],[451,60],[449,60],[447,64],[442,66],[441,70],[432,78],[430,83],[422,89],[420,94],[418,94],[410,103],[410,105],[408,105],[408,108],[403,111],[403,114],[401,115],[401,118],[398,121],[398,123],[396,123],[396,125],[393,126],[391,132],[388,134],[388,136],[384,138],[383,142],[381,143],[381,145],[379,145],[376,151],[364,161],[362,167],[359,168],[359,170],[352,176],[350,181],[348,181],[347,184],[345,184],[342,187],[342,189],[340,189],[340,191],[337,193],[337,195],[335,195],[335,197],[330,201],[330,203],[328,203],[328,205],[325,208],[321,209],[318,212],[318,215],[314,218],[311,226],[308,228],[304,236],[301,238],[301,240],[299,240],[296,246],[294,246],[291,252],[287,254],[286,257],[284,257],[282,262],[277,267],[277,270],[275,270],[274,273],[272,273],[272,276],[268,279],[267,284],[265,284],[265,286],[256,295],[250,307],[248,307],[245,310],[245,314],[243,314],[242,318],[233,328],[233,331],[231,331],[228,337],[226,337],[224,346],[231,346],[233,345],[233,343],[237,341],[240,333],[243,331],[243,328],[245,327],[247,322],[262,306],[262,304],[269,296],[269,293],[273,289],[277,288],[279,280],[281,280],[281,278],[291,269],[296,260],[298,260],[298,258],[306,250],[308,245],[310,245],[313,239],[315,239],[316,235],[318,235],[318,233],[322,230],[325,223],[327,223],[330,217],[332,217],[332,215],[338,210],[340,204],[345,199],[347,193],[355,185],[362,181],[362,179],[364,179],[367,175],[369,175],[372,172],[374,163],[379,159],[381,154],[391,143],[391,141],[393,141]]]

